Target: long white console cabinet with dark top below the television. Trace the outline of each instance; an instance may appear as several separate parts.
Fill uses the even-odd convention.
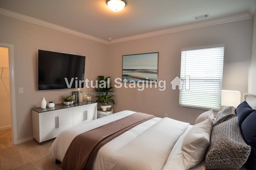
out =
[[[56,138],[60,132],[78,124],[97,118],[97,103],[85,101],[66,106],[56,104],[54,108],[33,108],[33,138],[39,143]]]

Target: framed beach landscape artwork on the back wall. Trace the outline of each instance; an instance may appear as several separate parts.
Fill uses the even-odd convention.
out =
[[[124,55],[122,81],[157,83],[158,54],[159,52]]]

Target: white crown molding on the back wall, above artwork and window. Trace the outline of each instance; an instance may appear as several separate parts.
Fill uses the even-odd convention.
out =
[[[239,20],[246,20],[246,19],[250,19],[250,18],[252,18],[252,17],[249,14],[240,14],[240,15],[236,15],[236,16],[230,16],[230,17],[225,17],[225,18],[220,18],[220,19],[215,19],[215,20],[210,20],[210,21],[198,22],[195,24],[189,24],[189,25],[185,25],[185,26],[178,26],[178,27],[169,28],[166,30],[159,30],[159,31],[155,31],[155,32],[139,34],[136,36],[118,38],[118,39],[112,40],[111,42],[108,42],[108,44],[136,40],[136,39],[140,39],[140,38],[147,38],[147,37],[151,37],[151,36],[158,36],[158,35],[162,35],[162,34],[169,34],[169,33],[173,33],[173,32],[191,30],[191,29],[195,29],[195,28],[202,28],[202,27],[212,26],[212,25],[217,25],[217,24],[224,24],[224,23],[234,22],[234,21],[239,21]]]

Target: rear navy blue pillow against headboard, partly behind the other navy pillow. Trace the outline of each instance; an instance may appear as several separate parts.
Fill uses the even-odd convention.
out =
[[[236,108],[236,115],[238,118],[239,126],[241,126],[242,122],[247,118],[247,116],[249,116],[254,111],[255,110],[252,109],[246,101],[239,104]]]

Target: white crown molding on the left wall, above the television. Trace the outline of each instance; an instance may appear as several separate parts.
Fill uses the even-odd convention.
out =
[[[38,20],[36,18],[32,18],[30,16],[22,15],[22,14],[12,12],[12,11],[9,11],[9,10],[5,10],[3,8],[0,8],[0,14],[5,15],[5,16],[10,16],[12,18],[16,18],[16,19],[19,19],[19,20],[24,20],[24,21],[27,21],[27,22],[31,22],[33,24],[38,24],[38,25],[41,25],[41,26],[52,28],[54,30],[59,30],[59,31],[62,31],[62,32],[66,32],[68,34],[73,34],[75,36],[80,36],[82,38],[87,38],[89,40],[101,42],[101,43],[104,43],[104,44],[108,43],[107,40],[103,40],[101,38],[96,38],[94,36],[90,36],[90,35],[87,35],[87,34],[84,34],[84,33],[78,32],[78,31],[70,30],[70,29],[64,28],[62,26],[58,26],[58,25],[55,25],[55,24],[52,24],[52,23],[49,23],[49,22]]]

